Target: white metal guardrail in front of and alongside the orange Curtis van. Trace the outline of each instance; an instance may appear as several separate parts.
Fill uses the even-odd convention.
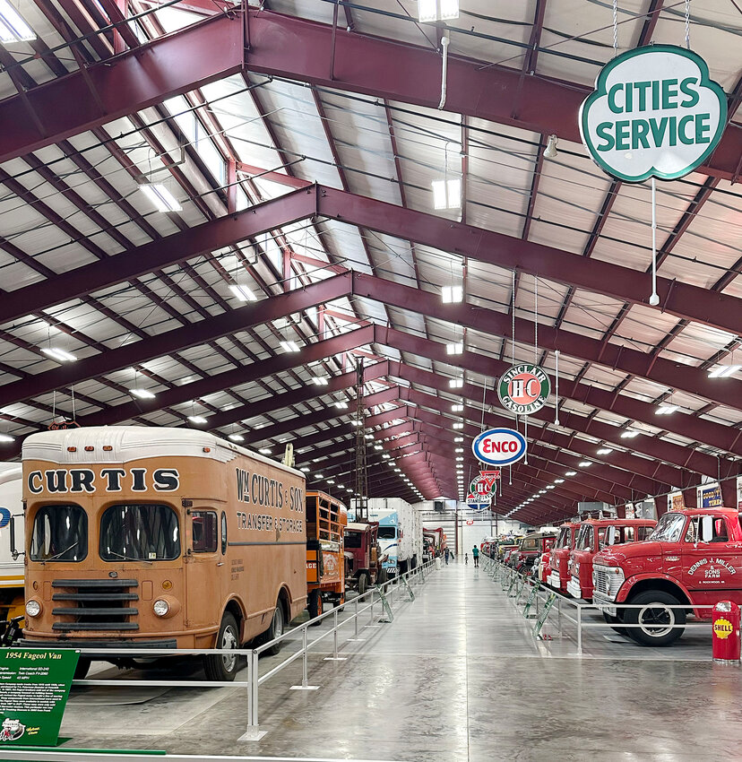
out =
[[[107,648],[105,651],[106,656],[146,656],[148,658],[152,656],[169,656],[169,657],[181,657],[181,656],[213,656],[218,654],[225,654],[231,656],[245,656],[246,657],[246,680],[73,680],[73,686],[114,686],[114,687],[128,687],[133,685],[144,688],[239,688],[244,687],[247,690],[247,725],[246,732],[244,732],[238,740],[260,740],[266,734],[266,731],[260,730],[260,724],[258,721],[258,707],[259,707],[259,688],[272,677],[277,675],[280,671],[286,669],[289,664],[302,659],[302,680],[300,685],[292,686],[294,690],[316,690],[319,686],[309,685],[309,665],[308,654],[315,648],[315,646],[325,638],[332,636],[332,656],[327,656],[327,661],[345,661],[347,657],[340,655],[341,644],[339,643],[338,634],[341,628],[349,625],[351,622],[354,625],[353,636],[346,638],[344,643],[361,642],[365,638],[359,635],[359,621],[362,616],[368,614],[367,623],[361,625],[361,628],[381,627],[383,623],[393,620],[393,607],[395,602],[412,602],[415,600],[415,593],[413,592],[413,586],[419,586],[425,584],[429,573],[435,568],[434,561],[428,561],[426,564],[410,569],[402,575],[394,576],[384,584],[377,584],[369,589],[363,595],[358,595],[349,602],[345,602],[341,606],[333,607],[330,611],[325,611],[319,617],[315,619],[309,619],[306,622],[298,625],[296,628],[291,628],[284,632],[280,637],[274,640],[264,643],[257,648],[235,648],[235,649],[218,649],[218,648]],[[381,603],[381,608],[379,608]],[[352,606],[353,610],[348,615],[346,614],[342,618],[339,616],[340,609]],[[382,617],[376,619],[375,611],[381,612]],[[385,616],[388,619],[384,618]],[[308,636],[308,630],[310,627],[314,627],[318,624],[322,624],[324,621],[332,619],[332,628],[326,630],[310,639]],[[263,654],[266,650],[273,645],[283,643],[288,640],[295,640],[297,634],[301,637],[301,648],[290,654],[282,662],[273,666],[265,674],[260,675],[258,670],[258,659],[260,654]],[[46,650],[65,650],[69,649],[55,649],[49,647]],[[76,648],[81,655],[95,654],[100,656],[100,648]],[[0,751],[0,759],[4,756]]]

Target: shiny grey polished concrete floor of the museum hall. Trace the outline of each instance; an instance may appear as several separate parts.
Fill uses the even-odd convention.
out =
[[[534,640],[532,622],[471,564],[444,567],[417,592],[415,602],[400,602],[393,623],[342,645],[349,627],[341,637],[347,661],[324,661],[332,637],[317,646],[309,678],[319,689],[289,689],[301,680],[300,662],[263,685],[262,740],[237,740],[245,688],[132,682],[123,692],[76,690],[66,745],[400,762],[742,757],[742,672],[711,662],[705,633],[657,652],[593,630],[578,658],[568,627],[558,637],[549,622],[554,639]],[[289,644],[262,660],[261,672],[290,653]]]

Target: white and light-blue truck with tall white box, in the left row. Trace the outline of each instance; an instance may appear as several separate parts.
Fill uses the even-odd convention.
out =
[[[379,523],[387,576],[404,574],[422,562],[422,519],[410,503],[401,498],[368,498],[368,519]]]

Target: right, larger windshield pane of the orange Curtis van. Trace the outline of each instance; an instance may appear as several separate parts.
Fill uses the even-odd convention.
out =
[[[180,556],[176,512],[168,506],[135,504],[106,509],[100,519],[104,561],[166,561]]]

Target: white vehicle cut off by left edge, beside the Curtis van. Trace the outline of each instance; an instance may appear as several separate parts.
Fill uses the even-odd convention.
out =
[[[10,543],[12,515],[23,513],[21,463],[0,463],[0,621],[23,613],[23,556],[13,560]],[[23,522],[15,522],[16,548],[23,548]]]

